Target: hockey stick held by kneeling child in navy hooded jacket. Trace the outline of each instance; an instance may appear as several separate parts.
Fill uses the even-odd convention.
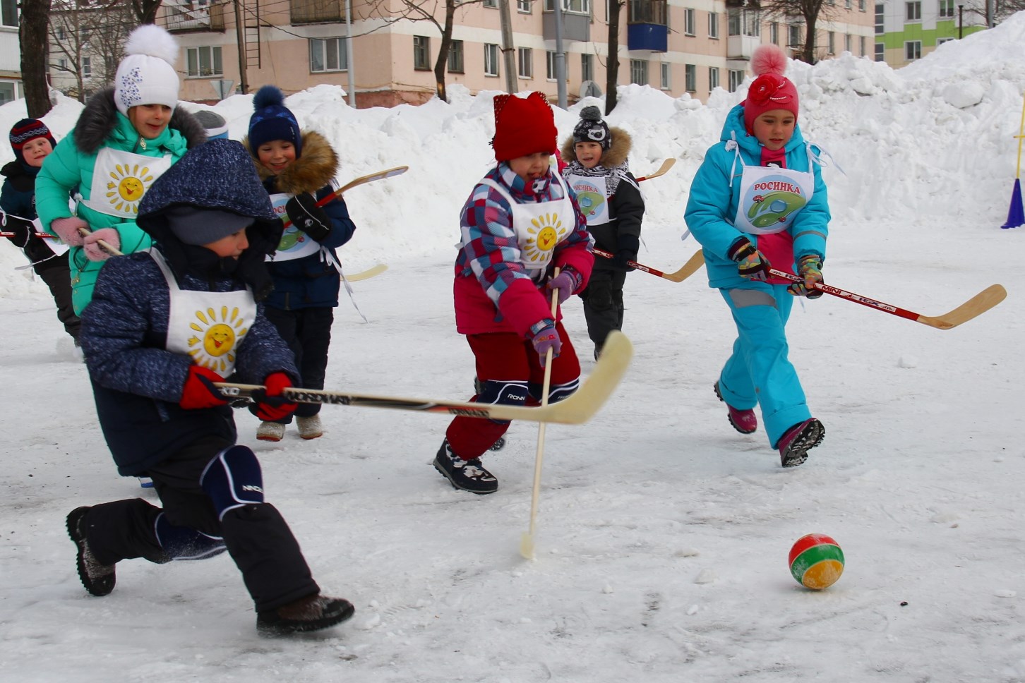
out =
[[[284,395],[298,403],[389,408],[398,411],[461,415],[485,420],[525,420],[527,422],[580,425],[590,420],[612,395],[623,373],[626,372],[632,355],[633,344],[626,338],[626,335],[618,331],[611,332],[605,346],[602,347],[599,361],[594,364],[593,372],[583,385],[566,400],[544,408],[470,403],[445,399],[396,398],[300,388],[285,389]],[[215,386],[227,398],[250,398],[253,391],[263,388],[252,384],[230,384],[228,382],[217,382]]]

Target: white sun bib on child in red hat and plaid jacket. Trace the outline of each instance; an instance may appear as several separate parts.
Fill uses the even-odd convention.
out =
[[[512,231],[516,232],[523,267],[528,270],[546,269],[556,252],[556,245],[568,238],[576,227],[569,189],[559,175],[554,174],[554,177],[563,188],[563,199],[533,204],[519,204],[494,180],[481,180],[483,184],[497,189],[512,209]]]

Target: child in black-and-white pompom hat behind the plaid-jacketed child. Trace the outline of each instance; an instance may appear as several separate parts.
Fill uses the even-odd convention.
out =
[[[633,270],[626,262],[637,260],[641,246],[644,198],[626,165],[629,153],[629,134],[609,128],[597,106],[580,110],[580,122],[563,142],[568,163],[563,176],[587,217],[594,246],[615,255],[611,261],[594,259],[590,282],[580,294],[596,360],[609,333],[623,329],[623,285]]]

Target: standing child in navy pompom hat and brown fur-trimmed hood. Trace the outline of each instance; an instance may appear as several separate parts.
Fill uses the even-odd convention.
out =
[[[337,189],[338,156],[320,133],[301,132],[284,102],[285,95],[275,86],[260,88],[253,97],[249,136],[243,140],[275,211],[291,221],[268,264],[274,292],[266,301],[266,316],[295,353],[301,386],[323,389],[341,284],[334,250],[348,242],[356,225],[341,197],[317,206]],[[295,412],[300,437],[323,433],[320,408],[303,403]],[[291,420],[264,420],[256,438],[280,441]]]

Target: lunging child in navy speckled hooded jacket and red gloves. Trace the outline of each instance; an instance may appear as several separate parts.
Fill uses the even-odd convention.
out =
[[[163,509],[141,499],[68,515],[78,573],[96,596],[115,565],[203,559],[227,550],[263,635],[314,631],[353,614],[320,594],[281,513],[265,503],[259,462],[236,444],[232,409],[213,386],[233,371],[265,385],[257,415],[295,410],[292,354],[257,302],[263,258],[281,239],[266,193],[234,140],[198,146],[153,184],[138,224],[150,252],[113,259],[82,315],[82,345],[100,427],[123,475],[148,474]]]

